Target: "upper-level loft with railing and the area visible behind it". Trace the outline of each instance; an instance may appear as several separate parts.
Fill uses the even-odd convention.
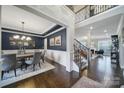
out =
[[[68,5],[67,7],[75,13],[76,23],[79,23],[116,6],[117,5]]]

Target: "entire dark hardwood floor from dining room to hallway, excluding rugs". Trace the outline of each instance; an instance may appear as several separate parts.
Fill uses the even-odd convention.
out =
[[[49,60],[47,60],[49,61]],[[80,76],[77,72],[67,72],[64,66],[49,61],[56,68],[8,85],[16,88],[68,88],[71,87]],[[122,71],[116,65],[111,64],[110,57],[101,57],[92,60],[87,69],[81,71],[81,76],[87,76],[107,87],[120,87],[124,84]]]

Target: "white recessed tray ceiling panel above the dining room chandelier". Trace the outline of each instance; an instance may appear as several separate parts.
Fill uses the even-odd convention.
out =
[[[49,20],[22,10],[16,6],[2,6],[2,27],[22,30],[21,22],[23,21],[25,22],[25,31],[37,34],[43,34],[56,25]]]

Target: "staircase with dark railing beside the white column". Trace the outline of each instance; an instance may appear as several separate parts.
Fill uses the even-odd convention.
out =
[[[73,60],[79,67],[79,72],[88,66],[90,61],[90,49],[84,46],[81,42],[74,39],[74,54]]]

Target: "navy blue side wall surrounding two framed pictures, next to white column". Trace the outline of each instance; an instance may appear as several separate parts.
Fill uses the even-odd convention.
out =
[[[50,39],[56,36],[61,35],[61,46],[50,46]],[[47,48],[51,50],[60,50],[60,51],[66,51],[66,29],[62,29],[59,32],[56,32],[50,36],[47,37]]]

